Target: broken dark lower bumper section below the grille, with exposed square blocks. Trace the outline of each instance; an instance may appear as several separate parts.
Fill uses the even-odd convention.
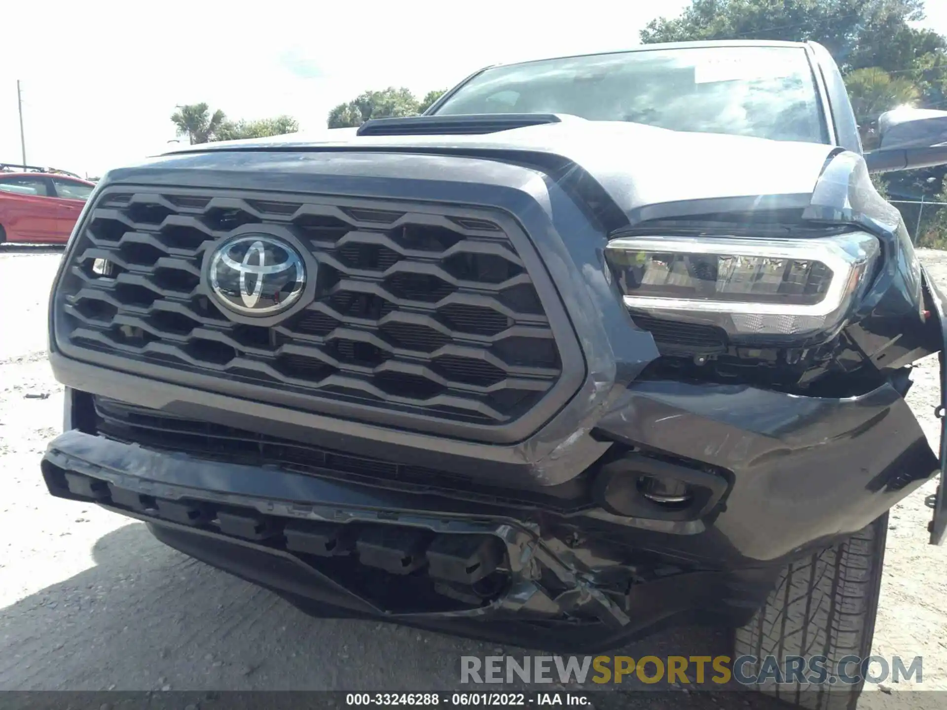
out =
[[[726,582],[690,573],[629,594],[634,566],[607,558],[590,566],[575,538],[544,535],[499,506],[461,512],[434,496],[157,453],[76,430],[50,444],[42,468],[53,495],[145,521],[194,558],[342,615],[601,648],[692,612]]]

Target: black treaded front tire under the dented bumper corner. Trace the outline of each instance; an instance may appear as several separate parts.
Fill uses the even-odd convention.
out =
[[[887,519],[884,513],[848,540],[793,562],[780,573],[766,604],[749,624],[736,630],[734,658],[757,659],[743,666],[746,675],[759,674],[767,656],[775,657],[780,670],[790,656],[807,660],[825,656],[831,677],[845,656],[871,655]],[[844,670],[849,676],[858,672],[854,664]],[[767,679],[753,687],[808,710],[854,710],[864,684],[780,684]]]

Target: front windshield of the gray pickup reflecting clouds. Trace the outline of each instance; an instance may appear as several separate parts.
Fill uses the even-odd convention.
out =
[[[571,114],[829,142],[802,47],[652,49],[511,64],[475,76],[436,113]]]

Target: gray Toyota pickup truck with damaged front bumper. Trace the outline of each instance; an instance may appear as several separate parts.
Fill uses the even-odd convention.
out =
[[[51,295],[45,485],[309,612],[724,624],[748,683],[853,706],[887,510],[944,460],[904,401],[944,301],[869,172],[947,136],[883,118],[866,153],[817,44],[649,45],[112,170]]]

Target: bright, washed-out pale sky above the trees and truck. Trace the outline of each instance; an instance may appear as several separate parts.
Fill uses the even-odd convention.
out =
[[[0,0],[0,162],[19,162],[16,80],[27,161],[99,174],[161,151],[175,104],[233,118],[290,114],[325,126],[368,88],[446,88],[494,62],[622,49],[688,0],[432,0],[324,4],[217,0]],[[924,25],[947,33],[947,2]]]

